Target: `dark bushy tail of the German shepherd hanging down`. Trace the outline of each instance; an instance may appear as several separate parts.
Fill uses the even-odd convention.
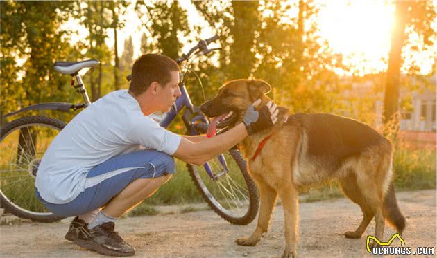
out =
[[[388,190],[384,198],[384,206],[382,212],[388,223],[393,225],[393,227],[396,228],[397,232],[402,235],[402,232],[404,231],[406,225],[406,221],[404,215],[402,215],[399,210],[399,206],[397,205],[393,180],[391,180],[390,185],[388,185]]]

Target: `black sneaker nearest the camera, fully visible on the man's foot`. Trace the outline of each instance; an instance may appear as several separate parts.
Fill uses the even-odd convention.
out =
[[[99,252],[102,255],[134,255],[135,248],[123,241],[119,234],[114,231],[114,227],[114,222],[107,222],[92,228],[92,230],[86,228],[88,234],[78,234],[78,238],[74,243],[82,248]]]

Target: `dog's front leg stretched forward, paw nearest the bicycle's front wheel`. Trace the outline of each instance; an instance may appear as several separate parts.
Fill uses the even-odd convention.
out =
[[[255,246],[267,232],[268,223],[270,222],[273,207],[275,206],[277,192],[266,183],[259,183],[259,197],[261,198],[261,207],[259,208],[258,225],[255,232],[250,237],[240,237],[235,242],[240,246]]]

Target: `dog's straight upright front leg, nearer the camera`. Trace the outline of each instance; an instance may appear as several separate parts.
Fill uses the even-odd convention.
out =
[[[286,185],[280,190],[280,198],[284,208],[285,223],[285,250],[282,258],[298,257],[296,247],[298,245],[298,221],[299,203],[298,190],[294,185]]]

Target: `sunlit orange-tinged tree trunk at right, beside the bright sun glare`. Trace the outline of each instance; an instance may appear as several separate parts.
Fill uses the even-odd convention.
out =
[[[399,88],[400,67],[402,65],[401,52],[405,39],[406,12],[408,1],[396,1],[395,23],[391,35],[391,49],[388,57],[388,70],[386,76],[386,92],[384,96],[384,124],[394,123],[399,127]]]

